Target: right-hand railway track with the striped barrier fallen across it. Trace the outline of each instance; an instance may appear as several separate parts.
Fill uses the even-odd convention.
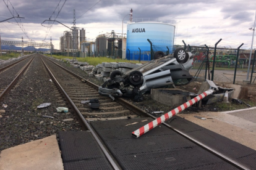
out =
[[[75,117],[79,120],[79,123],[81,124],[83,129],[86,131],[90,131],[90,133],[92,133],[92,136],[94,137],[98,146],[100,146],[101,151],[104,153],[105,158],[108,160],[108,163],[111,165],[111,168],[113,169],[137,169],[137,168],[148,169],[148,168],[154,167],[153,164],[150,164],[150,162],[152,161],[151,160],[152,158],[154,158],[154,161],[156,161],[157,163],[160,163],[160,164],[163,163],[162,166],[157,166],[160,169],[164,169],[164,168],[175,169],[177,167],[193,168],[192,165],[189,166],[189,163],[191,163],[191,160],[192,161],[197,160],[195,161],[195,164],[197,164],[198,167],[201,166],[201,169],[205,169],[205,168],[216,169],[216,167],[219,167],[219,168],[221,167],[225,169],[250,169],[254,166],[255,163],[247,164],[247,162],[246,161],[244,162],[244,160],[241,161],[239,159],[236,159],[237,155],[234,155],[234,157],[232,158],[233,153],[227,156],[225,155],[226,154],[225,152],[223,153],[220,152],[221,151],[220,148],[209,147],[207,144],[203,144],[202,140],[201,141],[197,140],[196,139],[197,137],[188,135],[186,132],[184,132],[184,129],[182,129],[183,126],[182,127],[179,127],[179,125],[177,126],[177,122],[180,121],[179,118],[177,118],[178,121],[176,121],[176,123],[163,123],[164,127],[160,127],[161,130],[158,129],[158,131],[160,131],[160,134],[155,134],[156,131],[154,131],[152,132],[153,134],[147,137],[144,137],[141,140],[134,139],[133,137],[130,136],[130,133],[132,132],[132,130],[130,129],[135,130],[137,129],[137,127],[140,127],[141,124],[147,124],[147,122],[151,121],[152,118],[155,119],[154,116],[149,115],[145,111],[141,110],[135,105],[132,105],[131,103],[127,102],[124,99],[115,99],[113,101],[109,97],[103,97],[99,95],[98,86],[96,86],[96,84],[93,84],[90,81],[87,81],[87,79],[83,79],[82,77],[75,75],[74,73],[70,73],[70,71],[61,67],[57,63],[53,63],[52,60],[49,60],[46,57],[43,57],[42,55],[40,55],[40,57],[41,57],[41,61],[45,65],[46,70],[51,75],[51,79],[54,81],[56,86],[58,86],[58,90],[55,89],[54,94],[59,96],[59,93],[61,93],[62,95],[65,96],[65,99],[62,99],[62,97],[59,96],[59,100],[61,100],[62,106],[63,107],[67,106],[66,103],[68,103],[69,104],[68,107],[71,108],[70,112],[75,114]],[[55,85],[51,85],[51,86],[55,87]],[[84,105],[81,103],[84,100],[90,100],[90,99],[98,99],[100,101],[100,108],[93,109],[90,107],[90,105]],[[96,119],[102,119],[102,120],[104,119],[106,121],[93,121]],[[183,120],[181,120],[180,123],[182,123],[182,121]],[[185,122],[184,124],[188,124],[188,123]],[[172,129],[173,131],[171,131],[170,129]],[[80,131],[80,130],[76,129],[75,131]],[[117,131],[117,134],[114,134],[115,131]],[[106,132],[108,132],[110,136],[106,136]],[[113,134],[111,134],[110,132],[113,132]],[[129,136],[127,135],[124,136],[126,132],[129,132]],[[161,139],[161,136],[163,134],[164,134],[163,139]],[[160,139],[159,140],[156,139],[155,136],[153,138],[150,138],[152,137],[152,135],[160,136]],[[121,139],[117,139],[118,137],[121,137]],[[172,139],[174,141],[171,141]],[[180,139],[180,140],[177,140],[177,139]],[[152,140],[152,142],[148,140]],[[167,144],[168,147],[171,147],[169,145],[172,144],[173,146],[176,145],[176,148],[168,148],[168,147],[162,148],[159,145],[156,145],[161,140],[163,141],[167,140],[170,143],[170,144]],[[181,145],[185,140],[186,141],[188,140],[187,143],[185,142],[186,143],[186,144],[184,143],[185,146],[181,147]],[[124,144],[121,144],[120,142]],[[146,142],[146,143],[143,143],[143,142]],[[175,142],[178,142],[178,143],[181,142],[181,144],[177,145]],[[160,144],[163,144],[163,142],[160,142]],[[121,146],[124,148],[118,148]],[[140,148],[140,147],[143,147],[143,148]],[[159,148],[155,150],[154,147],[155,148],[159,147]],[[239,147],[241,146],[239,145]],[[178,148],[181,150],[179,150]],[[198,155],[192,154],[191,153],[193,151],[192,148],[199,150],[200,153],[198,153]],[[120,151],[122,149],[126,151]],[[241,147],[240,152],[241,150],[247,150],[247,149],[248,148]],[[132,153],[130,153],[131,150],[133,150]],[[141,158],[138,157],[137,158],[139,160],[138,162],[138,160],[136,160],[136,155],[139,156],[140,154],[137,153],[137,150],[142,150],[140,154],[147,153],[146,154],[147,156],[150,156],[151,154],[152,155],[150,158],[148,158],[147,156],[146,157],[142,156]],[[177,157],[169,156],[168,158],[166,156],[165,157],[163,156],[162,160],[161,160],[161,157],[155,158],[153,156],[155,153],[158,153],[158,152],[163,154],[163,152],[165,152],[166,150],[168,150],[169,155],[172,155],[174,152],[175,153],[181,152],[182,154],[184,154],[183,156],[185,160],[182,160],[182,155],[179,155],[179,156],[176,155]],[[187,150],[187,153],[184,152],[185,150]],[[124,152],[124,153],[121,154],[120,152]],[[189,154],[192,154],[191,158]],[[196,158],[194,158],[195,156]],[[182,161],[180,163],[177,163],[176,161],[178,161],[179,158]],[[188,158],[190,158],[190,160],[187,160]],[[145,160],[142,161],[143,159]],[[130,161],[134,161],[134,163]],[[195,165],[194,165],[194,168],[195,168]]]

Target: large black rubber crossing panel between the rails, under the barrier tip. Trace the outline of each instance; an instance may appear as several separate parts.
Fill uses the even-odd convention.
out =
[[[131,136],[150,121],[134,118],[90,123],[123,169],[237,169],[162,124],[137,139]]]

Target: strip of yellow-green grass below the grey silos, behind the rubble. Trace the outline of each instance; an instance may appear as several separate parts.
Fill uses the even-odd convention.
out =
[[[50,57],[51,55],[47,55],[48,57]],[[64,56],[64,55],[53,55],[53,57],[55,59],[70,59],[72,60],[73,57],[67,57],[67,56]],[[130,63],[140,63],[138,60],[124,60],[124,59],[111,59],[111,58],[108,58],[108,57],[85,57],[85,58],[82,58],[82,57],[77,57],[76,58],[77,61],[79,62],[88,62],[90,65],[94,65],[96,66],[98,63],[102,63],[102,62],[130,62]]]

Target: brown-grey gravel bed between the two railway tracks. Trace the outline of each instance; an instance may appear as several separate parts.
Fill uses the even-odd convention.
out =
[[[7,71],[5,72],[7,73]],[[80,131],[80,125],[70,113],[57,113],[59,92],[43,67],[38,56],[28,68],[19,86],[0,102],[0,151],[32,140],[58,134],[59,131]],[[51,103],[47,108],[36,108],[41,103]],[[2,104],[7,104],[3,108]],[[53,116],[45,118],[43,116]],[[66,121],[69,119],[69,121]]]

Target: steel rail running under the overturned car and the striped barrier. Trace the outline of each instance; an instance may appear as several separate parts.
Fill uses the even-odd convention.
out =
[[[47,58],[46,58],[47,59]],[[48,59],[49,60],[49,59]],[[51,60],[49,60],[51,61]],[[53,62],[53,61],[51,61]],[[59,65],[58,63],[55,63],[53,62],[54,64],[58,65],[59,67],[63,68],[64,70],[68,71],[69,73],[71,73],[72,75],[76,76],[77,78],[79,79],[84,79],[82,78],[81,76],[79,75],[75,75],[75,73],[73,73],[72,71],[69,71],[67,70],[66,68],[62,67],[61,65]],[[87,79],[84,79],[88,84],[90,84],[90,86],[92,86],[93,88],[95,89],[98,89],[98,86],[94,83],[91,83],[90,81],[88,81]],[[127,102],[126,100],[124,99],[121,99],[121,98],[115,98],[115,100],[117,102],[120,102],[122,103],[123,105],[125,105],[127,108],[131,109],[132,111],[134,111],[135,113],[139,114],[139,115],[147,115],[153,119],[156,119],[155,116],[153,115],[150,115],[149,113],[145,112],[144,110],[140,109],[139,107],[135,106],[135,105],[132,105],[132,103],[129,103]],[[218,156],[218,158],[221,158],[222,160],[232,164],[233,166],[236,166],[236,168],[239,168],[239,169],[249,169],[249,168],[246,168],[245,166],[243,166],[242,164],[240,163],[237,163],[236,161],[232,160],[231,158],[228,158],[228,156],[225,156],[223,155],[222,153],[214,150],[213,148],[210,148],[208,147],[207,145],[203,144],[202,142],[194,139],[193,137],[187,135],[186,133],[182,132],[182,131],[179,131],[178,129],[176,129],[175,127],[172,127],[170,126],[169,124],[167,123],[162,123],[164,126],[168,127],[169,129],[172,129],[174,132],[177,132],[177,134],[180,134],[181,136],[185,137],[186,139],[190,140],[191,142],[193,142],[194,144],[198,145],[199,147],[202,147],[204,148],[205,150],[207,150],[208,152],[210,153],[213,153],[213,155],[216,155]]]

